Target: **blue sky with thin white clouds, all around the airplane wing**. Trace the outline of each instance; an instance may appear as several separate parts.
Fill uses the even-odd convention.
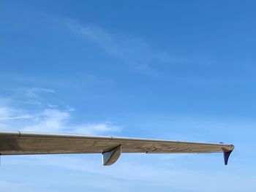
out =
[[[1,191],[255,191],[254,1],[0,1],[0,129],[236,146],[1,157]]]

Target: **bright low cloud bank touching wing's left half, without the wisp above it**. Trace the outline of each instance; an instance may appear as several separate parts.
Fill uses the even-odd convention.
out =
[[[23,131],[69,132],[73,134],[105,134],[121,131],[121,126],[115,126],[109,121],[103,123],[72,123],[71,112],[72,110],[61,111],[46,108],[34,114],[28,114],[27,112],[23,114],[12,108],[0,107],[0,127],[5,130],[18,128]],[[15,116],[16,113],[20,115]]]

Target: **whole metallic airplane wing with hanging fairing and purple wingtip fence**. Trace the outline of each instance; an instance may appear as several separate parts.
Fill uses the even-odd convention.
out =
[[[26,131],[0,131],[1,155],[102,153],[102,164],[111,165],[121,153],[224,153],[225,164],[233,145],[179,142],[75,134],[46,134]]]

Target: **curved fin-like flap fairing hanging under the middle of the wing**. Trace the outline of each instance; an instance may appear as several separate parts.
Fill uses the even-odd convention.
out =
[[[104,166],[114,164],[121,155],[121,145],[113,148],[113,150],[102,153],[102,164]]]

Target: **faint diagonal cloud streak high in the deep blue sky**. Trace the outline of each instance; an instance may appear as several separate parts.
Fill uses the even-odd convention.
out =
[[[69,20],[68,26],[71,31],[93,41],[106,53],[119,58],[121,62],[136,72],[157,75],[159,74],[158,65],[178,64],[183,61],[170,55],[170,53],[154,50],[143,39],[110,33],[97,26],[82,26],[78,20]]]

